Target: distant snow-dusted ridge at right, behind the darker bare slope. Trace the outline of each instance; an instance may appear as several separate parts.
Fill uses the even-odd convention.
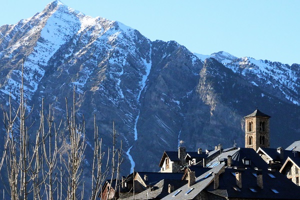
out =
[[[234,73],[242,75],[247,81],[259,86],[264,93],[277,93],[277,97],[300,105],[300,65],[283,64],[269,60],[256,60],[252,57],[235,57],[227,52],[219,51],[211,55],[194,53],[204,61],[213,57]],[[280,92],[276,92],[279,90]],[[265,95],[261,93],[261,95]]]

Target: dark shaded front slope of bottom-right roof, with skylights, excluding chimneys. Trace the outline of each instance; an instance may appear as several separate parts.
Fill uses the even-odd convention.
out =
[[[235,173],[233,168],[225,168],[225,171],[219,175],[219,187],[213,188],[213,183],[206,187],[206,191],[214,193],[226,198],[250,198],[250,199],[299,199],[300,189],[288,178],[278,171],[262,170],[263,188],[257,186],[257,178],[252,174],[256,174],[254,169],[245,169],[241,171],[242,187],[236,191],[233,186],[236,186],[236,178],[232,174]],[[269,174],[274,176],[271,177]],[[256,192],[251,191],[253,188]],[[276,189],[278,193],[271,189]]]

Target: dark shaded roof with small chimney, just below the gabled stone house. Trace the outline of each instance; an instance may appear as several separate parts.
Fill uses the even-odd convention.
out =
[[[181,180],[184,172],[136,172],[141,177],[146,185],[154,185],[162,179]],[[147,175],[148,180],[144,179],[144,175]]]

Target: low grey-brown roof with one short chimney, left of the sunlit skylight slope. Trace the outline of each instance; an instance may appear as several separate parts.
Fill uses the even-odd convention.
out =
[[[162,179],[153,186],[153,189],[148,188],[139,194],[134,195],[134,199],[161,199],[164,196],[168,195],[168,185],[171,184],[174,187],[174,190],[185,185],[187,180],[168,180]],[[151,191],[152,190],[152,191]],[[125,199],[133,199],[133,196]]]

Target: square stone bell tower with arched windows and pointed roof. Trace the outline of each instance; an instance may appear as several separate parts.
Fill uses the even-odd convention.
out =
[[[245,116],[245,148],[270,146],[270,116],[256,109],[253,113]]]

